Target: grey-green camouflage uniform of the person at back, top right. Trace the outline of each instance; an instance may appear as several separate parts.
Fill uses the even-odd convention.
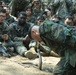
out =
[[[72,0],[52,0],[48,7],[53,9],[53,14],[57,14],[62,20],[71,14],[70,6]]]

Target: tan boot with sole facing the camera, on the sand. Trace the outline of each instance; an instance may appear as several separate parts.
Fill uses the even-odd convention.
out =
[[[24,53],[24,56],[26,56],[29,59],[37,58],[37,53],[35,52],[35,48],[31,47],[27,52]]]

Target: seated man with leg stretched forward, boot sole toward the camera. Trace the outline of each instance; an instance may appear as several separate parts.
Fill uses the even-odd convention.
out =
[[[37,54],[33,54],[32,52],[27,50],[30,40],[26,42],[27,45],[23,44],[23,40],[27,35],[29,27],[30,24],[26,22],[25,12],[20,12],[18,15],[18,21],[12,23],[9,26],[10,29],[9,36],[14,42],[14,47],[16,52],[22,56],[26,56],[31,59],[31,58],[36,58]]]

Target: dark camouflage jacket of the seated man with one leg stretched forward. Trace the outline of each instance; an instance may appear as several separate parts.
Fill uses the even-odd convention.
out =
[[[30,27],[29,23],[25,23],[23,26],[18,25],[18,22],[14,22],[9,25],[9,36],[12,40],[14,40],[15,37],[16,40],[20,38],[24,38],[27,35],[28,29]]]

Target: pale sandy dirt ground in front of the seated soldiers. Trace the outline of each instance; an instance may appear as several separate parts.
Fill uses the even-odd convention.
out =
[[[39,70],[39,58],[29,60],[19,55],[0,57],[0,75],[52,75],[57,57],[42,57],[42,70]]]

